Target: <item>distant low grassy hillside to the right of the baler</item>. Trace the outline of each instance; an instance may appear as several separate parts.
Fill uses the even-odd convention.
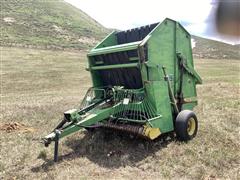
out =
[[[193,48],[193,55],[196,58],[213,58],[213,59],[239,59],[240,46],[214,41],[198,36],[192,36],[196,42]]]

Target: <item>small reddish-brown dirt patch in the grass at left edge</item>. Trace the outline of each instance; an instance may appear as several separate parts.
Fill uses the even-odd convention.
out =
[[[18,122],[10,122],[5,124],[0,124],[0,131],[5,131],[8,133],[13,131],[33,132],[35,131],[35,129]]]

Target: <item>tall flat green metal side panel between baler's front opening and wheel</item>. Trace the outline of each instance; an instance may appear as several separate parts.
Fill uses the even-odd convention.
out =
[[[161,132],[169,132],[174,129],[172,107],[170,103],[167,82],[164,80],[162,67],[166,67],[167,74],[174,79],[174,22],[165,20],[152,33],[148,40],[148,68],[150,83],[146,86],[151,91],[153,104],[161,119],[158,124]],[[155,65],[155,67],[154,67]],[[171,81],[171,88],[174,88],[174,81]]]

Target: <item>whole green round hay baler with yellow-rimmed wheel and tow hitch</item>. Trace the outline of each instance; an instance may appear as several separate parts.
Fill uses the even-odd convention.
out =
[[[44,138],[45,145],[81,129],[109,128],[155,139],[175,132],[192,139],[198,129],[191,36],[176,21],[165,19],[126,31],[114,31],[88,53],[93,86],[79,109]]]

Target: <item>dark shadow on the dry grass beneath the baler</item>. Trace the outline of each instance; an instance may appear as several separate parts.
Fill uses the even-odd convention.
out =
[[[83,133],[85,136],[82,139],[72,137],[61,144],[67,145],[73,151],[60,155],[57,163],[87,157],[93,163],[110,169],[136,166],[137,162],[154,156],[156,151],[175,141],[172,133],[164,134],[154,141],[110,130]],[[45,159],[42,165],[33,167],[32,171],[48,171],[54,164],[53,159]]]

